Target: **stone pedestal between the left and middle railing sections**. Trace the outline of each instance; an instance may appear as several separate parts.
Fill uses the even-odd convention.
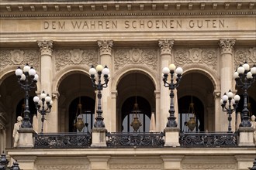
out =
[[[106,147],[106,128],[92,128],[91,147]]]

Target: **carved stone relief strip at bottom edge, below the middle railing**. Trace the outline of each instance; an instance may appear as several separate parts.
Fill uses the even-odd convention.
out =
[[[109,165],[110,169],[161,169],[162,165],[161,164],[138,164],[138,163],[133,163],[133,164],[110,164]]]

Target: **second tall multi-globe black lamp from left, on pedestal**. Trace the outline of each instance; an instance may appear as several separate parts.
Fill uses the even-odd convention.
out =
[[[103,88],[108,87],[108,83],[109,83],[109,68],[107,66],[105,66],[103,68],[102,65],[98,65],[96,66],[96,69],[94,68],[94,66],[91,67],[91,69],[89,70],[89,73],[91,75],[91,79],[92,79],[92,87],[94,87],[96,90],[98,90],[98,108],[96,110],[97,113],[97,117],[95,117],[95,123],[94,123],[94,127],[95,128],[105,128],[105,124],[103,122],[104,118],[102,117],[102,90]],[[104,83],[102,83],[102,74],[104,76]]]

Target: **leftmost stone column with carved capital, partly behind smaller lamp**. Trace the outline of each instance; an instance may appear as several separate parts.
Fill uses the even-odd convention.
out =
[[[44,90],[45,93],[49,93],[50,97],[52,97],[52,82],[53,82],[53,41],[38,41],[38,46],[41,52],[41,92]],[[57,100],[53,100],[53,110],[50,114],[47,115],[47,127],[46,131],[49,132],[57,132],[57,109],[56,107]],[[40,115],[39,115],[40,117]],[[40,118],[38,119],[40,120]],[[41,124],[41,122],[39,122]]]

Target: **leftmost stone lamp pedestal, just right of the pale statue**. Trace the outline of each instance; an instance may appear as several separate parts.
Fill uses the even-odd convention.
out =
[[[36,132],[33,128],[21,128],[18,130],[19,132],[19,141],[17,144],[17,148],[33,148],[34,147],[34,139],[33,134]]]

